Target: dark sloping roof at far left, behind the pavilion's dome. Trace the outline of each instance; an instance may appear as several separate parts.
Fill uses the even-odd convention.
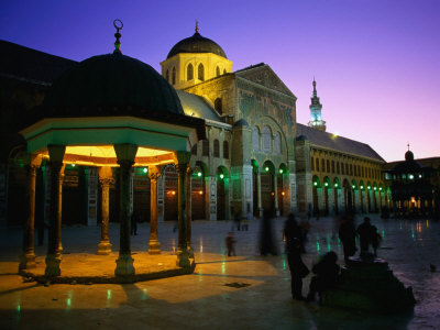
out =
[[[77,62],[0,40],[0,76],[51,85]]]

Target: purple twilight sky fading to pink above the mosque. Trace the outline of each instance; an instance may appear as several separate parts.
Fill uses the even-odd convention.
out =
[[[386,161],[440,156],[440,1],[13,1],[0,4],[0,38],[82,61],[112,52],[160,70],[194,33],[212,38],[233,70],[264,62],[309,121],[317,79],[328,132],[370,144]]]

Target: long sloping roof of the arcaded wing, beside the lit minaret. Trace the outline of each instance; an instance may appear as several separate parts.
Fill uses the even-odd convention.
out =
[[[365,143],[339,135],[333,135],[328,132],[322,132],[300,123],[297,124],[296,135],[305,135],[311,144],[317,146],[385,162],[384,158],[382,158],[370,145]]]

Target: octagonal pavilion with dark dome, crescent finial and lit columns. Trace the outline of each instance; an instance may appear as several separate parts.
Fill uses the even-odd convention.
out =
[[[184,113],[175,89],[150,65],[122,55],[118,28],[112,54],[87,58],[65,72],[53,85],[42,106],[32,109],[20,132],[28,142],[31,176],[30,216],[26,221],[20,270],[35,267],[33,223],[35,170],[42,161],[51,170],[48,250],[45,277],[61,275],[62,197],[66,166],[87,165],[101,184],[101,241],[98,254],[109,254],[109,185],[112,168],[119,168],[120,248],[114,275],[131,282],[135,270],[130,242],[130,179],[133,167],[147,169],[157,185],[160,165],[175,164],[178,172],[177,266],[191,272],[185,221],[186,180],[190,150],[205,139],[205,121]],[[152,188],[151,191],[156,191]],[[161,253],[157,240],[157,194],[151,194],[148,252]],[[96,207],[96,206],[95,206]]]

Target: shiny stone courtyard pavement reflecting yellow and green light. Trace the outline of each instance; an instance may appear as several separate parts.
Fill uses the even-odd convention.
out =
[[[22,231],[9,228],[0,231],[0,329],[440,329],[440,223],[371,218],[384,238],[378,256],[405,286],[413,287],[417,299],[413,312],[384,316],[293,300],[282,253],[282,218],[274,219],[278,255],[258,255],[257,220],[250,223],[249,231],[234,228],[238,256],[232,257],[226,256],[224,249],[232,222],[194,221],[194,274],[123,285],[46,287],[24,282],[16,275]],[[358,217],[356,223],[361,220]],[[333,220],[311,219],[310,226],[302,257],[306,264],[311,267],[330,250],[342,263],[342,246],[332,238]],[[174,257],[177,244],[173,228],[174,223],[158,226],[162,251],[168,258]],[[118,233],[118,224],[111,223],[114,252]],[[148,224],[141,223],[138,235],[132,237],[135,266],[136,255],[146,251],[148,233]],[[62,237],[62,265],[67,266],[75,255],[96,253],[100,227],[63,227]],[[42,265],[46,250],[46,245],[35,248]],[[111,263],[116,257],[117,253],[111,255]],[[438,270],[431,272],[430,264]],[[310,276],[304,283],[304,295]]]

